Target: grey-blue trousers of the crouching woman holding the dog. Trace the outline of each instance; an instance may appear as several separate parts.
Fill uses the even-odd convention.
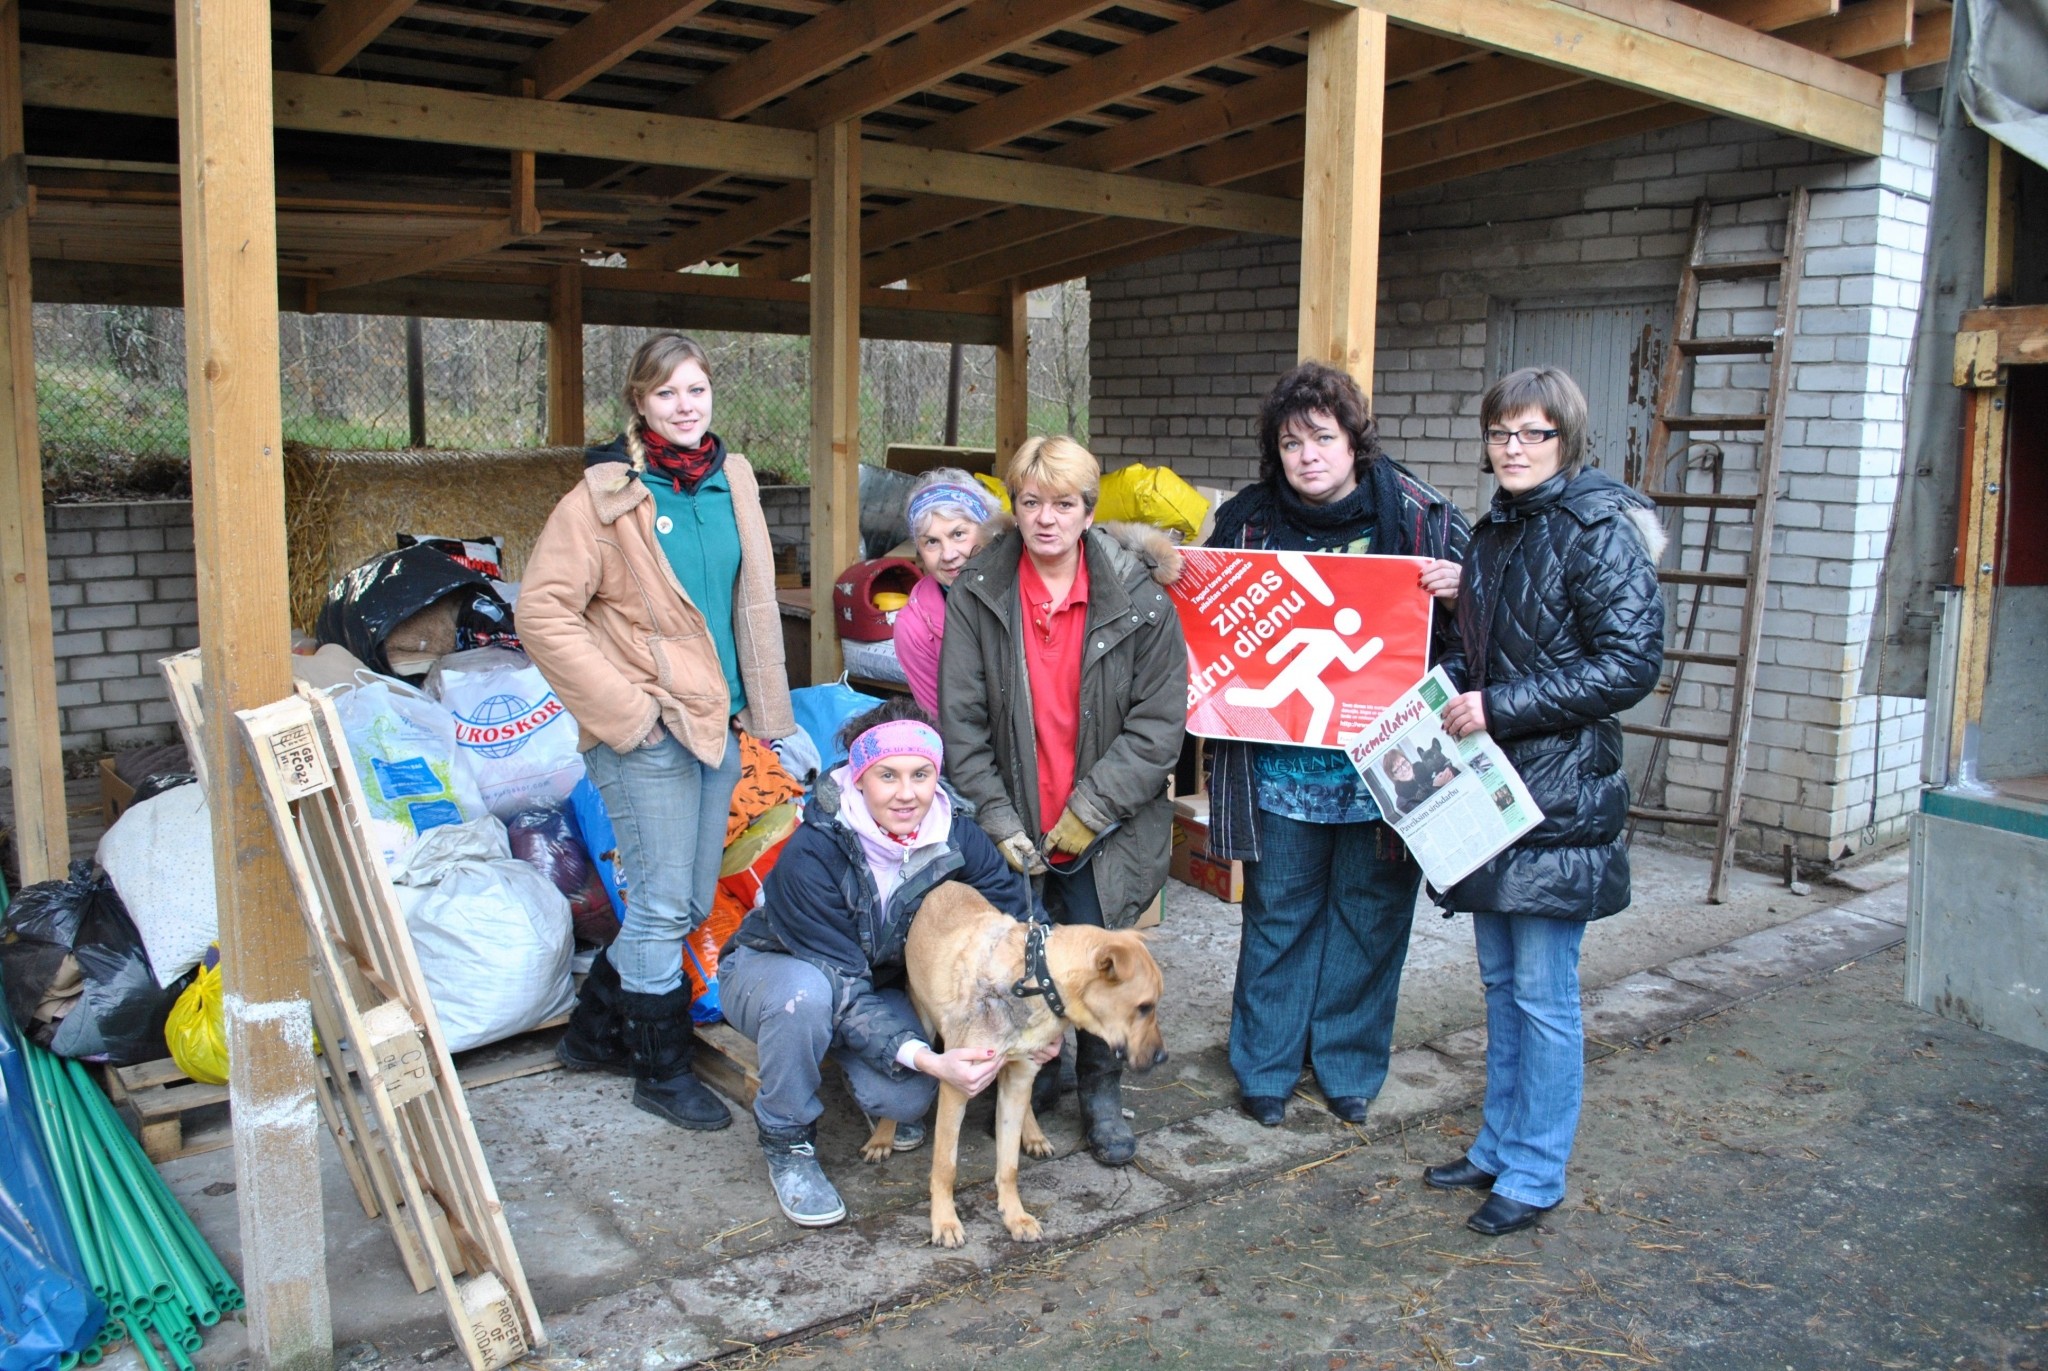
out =
[[[877,990],[905,1025],[918,1010],[901,990]],[[760,1049],[762,1088],[754,1117],[770,1129],[801,1129],[825,1113],[817,1098],[825,1057],[846,1072],[846,1088],[872,1119],[915,1123],[932,1113],[938,1078],[881,1072],[840,1041],[831,1019],[831,982],[801,957],[735,947],[719,963],[725,1021]]]

